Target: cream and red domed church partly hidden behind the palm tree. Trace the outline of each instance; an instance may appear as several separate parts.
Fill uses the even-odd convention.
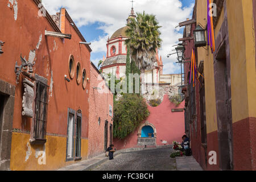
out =
[[[129,18],[136,18],[134,9],[131,9]],[[129,18],[127,23],[129,23]],[[127,46],[125,40],[128,39],[126,35],[126,30],[128,26],[119,28],[114,34],[108,39],[106,43],[107,52],[106,58],[103,56],[101,71],[105,74],[113,74],[118,79],[125,77],[126,72],[126,56],[127,56]],[[181,85],[181,75],[180,74],[163,74],[163,61],[162,56],[159,56],[158,49],[156,49],[155,56],[155,67],[150,71],[145,71],[142,79],[142,94],[147,99],[155,89],[159,92],[157,98],[163,100],[164,94],[177,94],[178,85]],[[173,89],[172,87],[176,87]],[[172,92],[168,92],[172,88]],[[175,92],[174,92],[175,90]],[[154,94],[153,94],[154,95]],[[154,98],[156,98],[154,96]]]

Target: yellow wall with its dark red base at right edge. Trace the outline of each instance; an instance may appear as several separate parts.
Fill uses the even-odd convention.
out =
[[[256,169],[256,72],[253,1],[227,1],[232,70],[234,169]],[[236,12],[236,13],[234,13]],[[234,15],[236,14],[236,15]],[[239,16],[238,16],[239,14]],[[236,22],[240,22],[236,25]],[[237,51],[240,50],[240,51]],[[242,142],[245,141],[246,142]],[[241,150],[243,143],[243,150]]]

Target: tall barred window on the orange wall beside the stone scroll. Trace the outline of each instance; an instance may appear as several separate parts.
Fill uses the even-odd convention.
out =
[[[33,139],[46,142],[49,86],[36,81],[35,119]]]

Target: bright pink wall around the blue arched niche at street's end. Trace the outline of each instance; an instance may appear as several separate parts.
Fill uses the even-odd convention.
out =
[[[184,111],[172,113],[172,109],[183,109],[184,102],[178,107],[172,104],[168,95],[164,96],[162,104],[158,107],[147,106],[150,111],[150,116],[142,122],[141,125],[148,122],[155,126],[156,129],[156,145],[163,146],[164,144],[172,144],[174,140],[181,142],[181,137],[185,134]],[[137,146],[139,127],[130,134],[126,139],[114,139],[114,148],[117,150],[125,148],[141,147]]]

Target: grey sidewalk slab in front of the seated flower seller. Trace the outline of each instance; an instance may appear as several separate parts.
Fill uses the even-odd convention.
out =
[[[176,157],[177,171],[203,171],[193,156]]]

